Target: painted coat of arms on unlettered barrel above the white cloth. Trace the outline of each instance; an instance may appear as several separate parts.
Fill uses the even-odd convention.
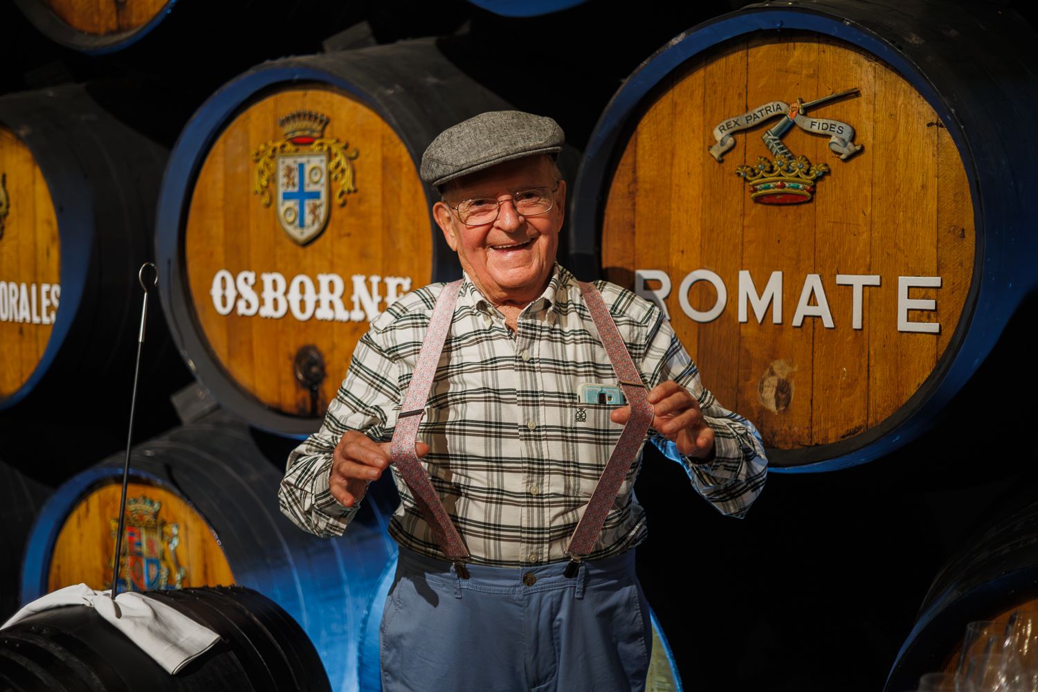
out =
[[[161,502],[144,496],[127,498],[122,535],[126,550],[119,559],[120,590],[153,591],[184,586],[187,569],[176,559],[180,526],[160,519],[161,508]],[[118,523],[118,519],[110,520],[113,536]]]

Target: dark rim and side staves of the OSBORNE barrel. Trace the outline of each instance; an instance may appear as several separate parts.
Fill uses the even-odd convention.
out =
[[[163,310],[181,355],[196,379],[222,406],[250,424],[302,439],[320,424],[320,418],[290,416],[260,404],[229,378],[210,353],[204,335],[198,333],[181,253],[191,190],[201,164],[223,128],[250,100],[282,86],[318,84],[343,89],[375,110],[401,137],[417,170],[426,146],[442,130],[485,110],[511,108],[460,72],[442,55],[437,43],[416,39],[265,62],[214,93],[188,122],[173,147],[156,223],[156,252],[160,268],[165,270],[160,272]],[[387,56],[397,59],[387,61]],[[385,84],[407,88],[388,89]],[[441,103],[438,99],[442,92],[465,93],[469,99]],[[426,111],[424,103],[436,104],[437,108]],[[439,193],[430,185],[422,187],[433,237],[432,281],[453,280],[461,273],[457,255],[436,227],[431,211]]]

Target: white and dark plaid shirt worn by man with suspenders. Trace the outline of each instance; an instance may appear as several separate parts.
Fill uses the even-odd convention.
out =
[[[328,491],[332,450],[346,431],[392,438],[444,284],[411,292],[373,323],[321,430],[290,455],[278,492],[281,511],[322,536],[342,535],[356,513]],[[699,369],[659,308],[605,281],[596,283],[646,386],[675,380],[700,402],[715,435],[715,458],[694,464],[654,430],[647,439],[682,464],[692,487],[726,515],[743,516],[764,486],[767,460],[757,430],[703,388]],[[622,425],[610,406],[578,404],[582,383],[616,384],[573,275],[556,265],[541,298],[512,332],[466,276],[455,306],[418,439],[422,465],[472,561],[498,566],[567,559],[566,546],[609,459]],[[590,558],[622,553],[646,537],[631,467]],[[443,557],[393,468],[401,505],[389,533],[401,545]]]

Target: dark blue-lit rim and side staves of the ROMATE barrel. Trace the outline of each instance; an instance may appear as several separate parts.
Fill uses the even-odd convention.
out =
[[[1038,243],[1029,238],[1022,227],[1028,218],[1038,216],[1038,205],[1033,199],[1025,199],[1018,194],[1015,186],[1000,185],[998,176],[1000,168],[1028,169],[1027,162],[1038,155],[1038,141],[1020,145],[1020,142],[1009,139],[1012,133],[1007,133],[1004,138],[994,133],[987,134],[987,138],[980,142],[989,146],[978,148],[977,136],[973,135],[973,139],[966,136],[967,132],[991,131],[992,121],[1018,121],[1021,114],[1036,112],[1038,89],[1032,88],[1023,98],[1012,101],[1012,112],[1001,115],[1001,120],[994,117],[998,111],[989,107],[992,100],[966,88],[981,78],[992,81],[987,63],[978,64],[969,59],[976,52],[963,51],[962,47],[948,48],[947,53],[958,59],[954,63],[926,60],[926,50],[934,44],[939,45],[944,32],[954,33],[954,27],[945,13],[925,2],[917,3],[916,7],[919,13],[910,16],[878,3],[862,6],[848,0],[823,0],[812,2],[810,6],[757,4],[689,29],[646,59],[610,100],[592,134],[574,185],[569,233],[570,265],[578,274],[597,276],[601,273],[599,227],[605,210],[608,177],[623,151],[622,143],[633,132],[644,113],[644,104],[651,103],[652,94],[667,76],[696,55],[726,40],[754,32],[777,32],[780,29],[815,31],[823,37],[840,38],[862,48],[884,60],[906,79],[948,126],[963,157],[977,228],[974,280],[952,335],[952,343],[959,347],[945,352],[926,382],[894,415],[865,433],[814,447],[794,450],[769,448],[771,467],[780,472],[828,471],[867,463],[894,451],[929,430],[944,406],[994,347],[1020,301],[1038,286],[1038,279],[1029,275],[1027,267],[1018,259],[1020,255],[1031,255],[1038,250]],[[875,11],[876,17],[871,11]],[[978,20],[963,16],[956,16],[955,19],[954,26],[962,29],[958,36],[974,38],[969,28]],[[1011,18],[1003,21],[1014,31],[1026,31],[1021,22],[1014,24]],[[989,62],[993,65],[1007,61],[1017,63],[1019,56],[1011,50],[1012,45],[1013,41],[1008,39],[999,43],[995,57],[988,57]],[[983,48],[990,52],[992,46],[979,43],[978,47],[971,48]],[[1007,87],[1012,84],[1012,74],[1001,77],[1002,82],[989,87],[991,92],[1002,93],[1003,83]],[[1004,100],[994,101],[1006,103]],[[1027,117],[1034,119],[1033,115],[1025,119]],[[984,231],[988,228],[992,230],[988,230],[988,237],[985,237]],[[1006,234],[1003,229],[1016,231],[1015,238],[1019,242],[1003,241]],[[992,243],[992,239],[995,242]],[[999,286],[1003,293],[992,289],[991,285]],[[1008,300],[1005,300],[1007,297]]]

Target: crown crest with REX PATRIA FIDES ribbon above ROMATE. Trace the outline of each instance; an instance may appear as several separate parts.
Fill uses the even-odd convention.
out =
[[[815,192],[815,183],[829,172],[829,167],[823,163],[812,164],[808,157],[794,155],[782,138],[794,124],[811,134],[828,135],[829,148],[842,161],[846,161],[862,150],[862,145],[854,143],[854,128],[840,120],[808,117],[807,112],[809,108],[857,93],[856,88],[848,89],[809,103],[797,99],[793,105],[772,101],[742,115],[727,118],[713,129],[716,143],[710,146],[709,151],[720,162],[725,153],[735,146],[733,133],[748,130],[781,115],[782,119],[762,137],[764,145],[774,159],[769,161],[758,157],[753,166],[736,167],[735,174],[750,187],[749,197],[755,202],[796,204],[809,201]]]

